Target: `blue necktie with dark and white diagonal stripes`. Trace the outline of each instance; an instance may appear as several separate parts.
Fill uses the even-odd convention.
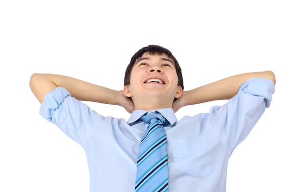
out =
[[[140,142],[135,192],[167,192],[167,146],[163,127],[165,118],[154,111],[146,113],[141,120],[149,125]]]

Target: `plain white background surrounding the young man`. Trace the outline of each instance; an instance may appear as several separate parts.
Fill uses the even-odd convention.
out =
[[[307,192],[304,0],[2,0],[0,2],[0,191],[88,192],[83,149],[38,114],[34,72],[123,88],[130,57],[156,44],[182,68],[185,90],[243,73],[272,70],[276,92],[232,153],[228,192]],[[187,106],[208,112],[215,101]],[[119,106],[89,103],[128,119]]]

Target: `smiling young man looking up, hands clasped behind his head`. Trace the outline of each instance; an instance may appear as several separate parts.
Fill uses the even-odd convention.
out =
[[[139,174],[145,175],[137,173],[138,153],[151,123],[141,118],[155,111],[165,118],[168,178],[154,188],[225,192],[230,154],[269,107],[274,87],[274,73],[265,71],[238,74],[183,91],[178,61],[168,49],[154,45],[132,56],[123,91],[57,74],[34,73],[30,78],[30,88],[42,103],[40,114],[84,148],[91,192],[143,190],[136,187],[143,182]],[[212,107],[208,114],[176,119],[175,112],[183,106],[219,99],[230,100]],[[132,114],[127,122],[102,116],[80,100],[120,105]]]

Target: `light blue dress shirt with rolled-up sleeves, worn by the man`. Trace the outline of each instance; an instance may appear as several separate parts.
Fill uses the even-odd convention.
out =
[[[170,192],[226,192],[230,155],[270,106],[274,83],[245,81],[236,96],[209,113],[177,120],[171,108],[157,110],[165,126]],[[45,96],[40,114],[80,144],[87,155],[91,192],[134,192],[139,142],[146,111],[125,119],[102,116],[58,87]]]

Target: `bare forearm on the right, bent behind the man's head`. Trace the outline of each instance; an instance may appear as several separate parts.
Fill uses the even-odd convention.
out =
[[[190,91],[184,91],[182,96],[173,103],[173,110],[177,112],[181,107],[186,105],[230,99],[237,94],[244,81],[256,77],[267,78],[273,81],[274,84],[276,83],[275,74],[272,71],[248,72],[233,75]]]

